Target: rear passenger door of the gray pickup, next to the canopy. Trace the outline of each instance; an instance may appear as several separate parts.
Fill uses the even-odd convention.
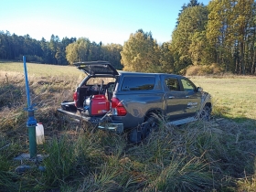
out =
[[[183,118],[187,106],[187,92],[181,91],[176,77],[165,76],[166,115],[169,121]]]

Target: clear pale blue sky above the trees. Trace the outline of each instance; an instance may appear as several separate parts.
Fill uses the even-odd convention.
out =
[[[197,0],[208,5],[210,0]],[[121,44],[138,29],[157,43],[171,40],[189,0],[0,0],[0,31],[49,41],[51,35]]]

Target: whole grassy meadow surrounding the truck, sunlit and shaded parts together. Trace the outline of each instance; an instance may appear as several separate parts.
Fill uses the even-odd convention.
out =
[[[45,127],[42,162],[28,153],[23,63],[0,61],[1,191],[256,191],[255,77],[190,77],[212,95],[210,122],[167,126],[142,144],[57,112],[84,73],[27,63],[35,118]],[[30,165],[24,173],[16,167]],[[45,167],[45,170],[39,167]]]

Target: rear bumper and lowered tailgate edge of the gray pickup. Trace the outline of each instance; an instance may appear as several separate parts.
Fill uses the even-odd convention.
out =
[[[68,115],[72,119],[83,120],[93,124],[99,124],[98,128],[101,130],[109,130],[114,133],[123,133],[123,123],[120,120],[112,120],[108,115],[101,117],[89,117],[82,115],[81,112],[69,112],[63,109],[58,109],[58,112]]]

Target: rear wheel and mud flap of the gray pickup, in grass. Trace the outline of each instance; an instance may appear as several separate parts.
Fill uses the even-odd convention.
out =
[[[142,142],[150,133],[158,128],[158,121],[155,117],[149,117],[140,127],[134,128],[130,133],[132,143]]]

